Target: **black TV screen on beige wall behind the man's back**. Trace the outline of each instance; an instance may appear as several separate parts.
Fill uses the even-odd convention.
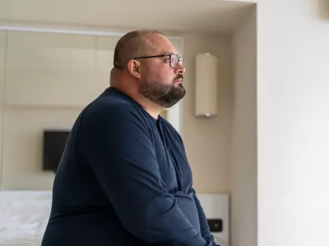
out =
[[[70,131],[43,132],[43,169],[57,171]]]

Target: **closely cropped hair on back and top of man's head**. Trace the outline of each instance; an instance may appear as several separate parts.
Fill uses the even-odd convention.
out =
[[[154,30],[136,30],[126,33],[117,42],[114,49],[113,65],[117,68],[124,68],[125,62],[133,57],[145,55],[152,48],[149,36],[162,35]]]

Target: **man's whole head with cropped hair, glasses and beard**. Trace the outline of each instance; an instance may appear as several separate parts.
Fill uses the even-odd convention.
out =
[[[175,46],[162,33],[131,31],[115,47],[110,86],[158,115],[159,109],[175,105],[185,94],[181,62]]]

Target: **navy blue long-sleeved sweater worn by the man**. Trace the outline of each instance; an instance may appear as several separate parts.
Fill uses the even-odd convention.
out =
[[[108,88],[80,113],[42,246],[215,245],[180,135]]]

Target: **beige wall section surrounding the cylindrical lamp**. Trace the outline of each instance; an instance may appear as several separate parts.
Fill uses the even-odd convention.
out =
[[[219,58],[218,117],[195,118],[195,55],[209,52]],[[184,34],[183,139],[199,193],[230,191],[230,112],[232,83],[230,36],[211,33]]]

